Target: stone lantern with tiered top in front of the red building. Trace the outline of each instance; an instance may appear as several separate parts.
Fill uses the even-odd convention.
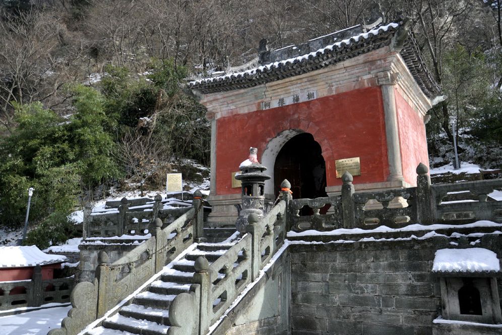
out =
[[[235,179],[242,184],[242,209],[235,226],[244,233],[249,214],[262,217],[265,212],[265,181],[270,176],[263,173],[267,168],[258,162],[258,149],[253,147],[249,148],[249,158],[240,163],[239,170],[241,173]]]

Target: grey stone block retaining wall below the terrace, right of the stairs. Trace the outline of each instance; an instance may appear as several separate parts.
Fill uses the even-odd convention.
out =
[[[446,238],[290,245],[292,334],[455,333],[432,323],[441,312],[432,263],[448,247]]]

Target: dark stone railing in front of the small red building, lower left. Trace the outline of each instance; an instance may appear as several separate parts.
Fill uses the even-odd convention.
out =
[[[74,281],[73,276],[42,280],[42,269],[37,265],[31,280],[0,282],[0,310],[69,302]]]

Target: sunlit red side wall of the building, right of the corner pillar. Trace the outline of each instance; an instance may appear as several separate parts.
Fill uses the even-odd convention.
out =
[[[422,162],[429,166],[425,125],[403,96],[395,90],[398,117],[399,144],[404,180],[416,186],[416,167]]]

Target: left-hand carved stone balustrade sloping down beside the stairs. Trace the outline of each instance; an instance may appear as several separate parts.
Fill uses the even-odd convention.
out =
[[[132,294],[184,249],[202,238],[202,194],[197,191],[194,196],[189,211],[165,228],[162,228],[163,221],[156,218],[152,237],[117,261],[109,263],[108,255],[101,251],[94,281],[75,286],[71,294],[73,308],[68,312],[68,317],[62,320],[61,328],[53,329],[48,334],[77,334]],[[171,315],[169,318],[171,319]]]

